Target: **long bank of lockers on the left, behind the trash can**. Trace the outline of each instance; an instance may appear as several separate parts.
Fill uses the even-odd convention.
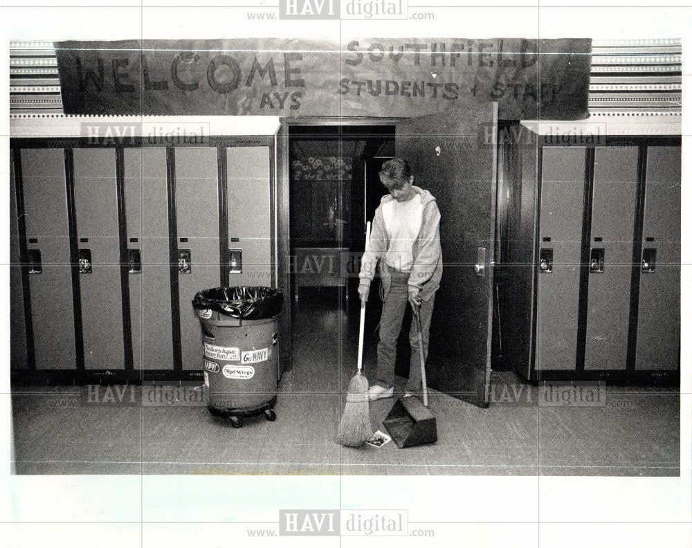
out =
[[[12,369],[199,369],[194,294],[272,285],[270,156],[13,148]]]

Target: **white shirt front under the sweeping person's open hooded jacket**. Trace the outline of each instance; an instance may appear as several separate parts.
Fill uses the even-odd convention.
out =
[[[421,195],[407,201],[396,200],[382,204],[385,230],[389,247],[385,263],[398,271],[408,272],[413,266],[413,244],[423,224],[423,201]]]

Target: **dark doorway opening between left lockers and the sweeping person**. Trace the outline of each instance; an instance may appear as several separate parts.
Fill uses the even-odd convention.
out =
[[[353,351],[350,343],[357,340],[358,271],[365,250],[365,223],[372,221],[386,194],[378,173],[382,163],[394,156],[394,129],[394,125],[320,122],[288,126],[289,298],[294,349],[301,347],[303,337],[320,330],[321,336],[338,347],[341,363],[355,363],[347,356]],[[382,307],[377,297],[377,278],[370,294],[365,360],[374,365],[376,327]],[[294,361],[300,363],[301,358]],[[345,369],[350,371],[349,367]],[[314,379],[314,384],[320,385],[321,381]]]

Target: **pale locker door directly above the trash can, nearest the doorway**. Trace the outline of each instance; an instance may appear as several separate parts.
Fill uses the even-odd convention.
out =
[[[226,162],[229,285],[272,286],[269,147],[228,147]]]

